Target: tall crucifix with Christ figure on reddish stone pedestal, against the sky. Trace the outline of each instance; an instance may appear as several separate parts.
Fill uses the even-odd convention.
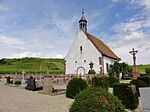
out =
[[[137,79],[138,76],[138,71],[136,67],[136,56],[135,56],[137,52],[138,51],[135,51],[134,48],[132,48],[132,51],[129,51],[129,53],[133,55],[133,79]]]

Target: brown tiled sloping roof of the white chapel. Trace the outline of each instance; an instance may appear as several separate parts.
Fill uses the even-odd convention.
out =
[[[102,53],[102,55],[112,58],[112,59],[119,59],[120,58],[105,44],[103,43],[100,39],[94,37],[93,35],[89,33],[85,33],[87,38],[92,42],[92,44],[96,47],[96,49]]]

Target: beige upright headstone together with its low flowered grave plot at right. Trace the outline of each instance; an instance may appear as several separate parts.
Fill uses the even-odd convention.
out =
[[[59,88],[55,89],[52,84],[52,76],[45,76],[43,90],[41,93],[54,96],[54,95],[64,94],[65,90]]]

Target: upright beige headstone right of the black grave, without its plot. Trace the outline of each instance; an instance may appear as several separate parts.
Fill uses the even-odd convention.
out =
[[[44,85],[43,85],[43,90],[42,93],[44,94],[51,94],[52,93],[52,76],[45,76],[44,77]]]

